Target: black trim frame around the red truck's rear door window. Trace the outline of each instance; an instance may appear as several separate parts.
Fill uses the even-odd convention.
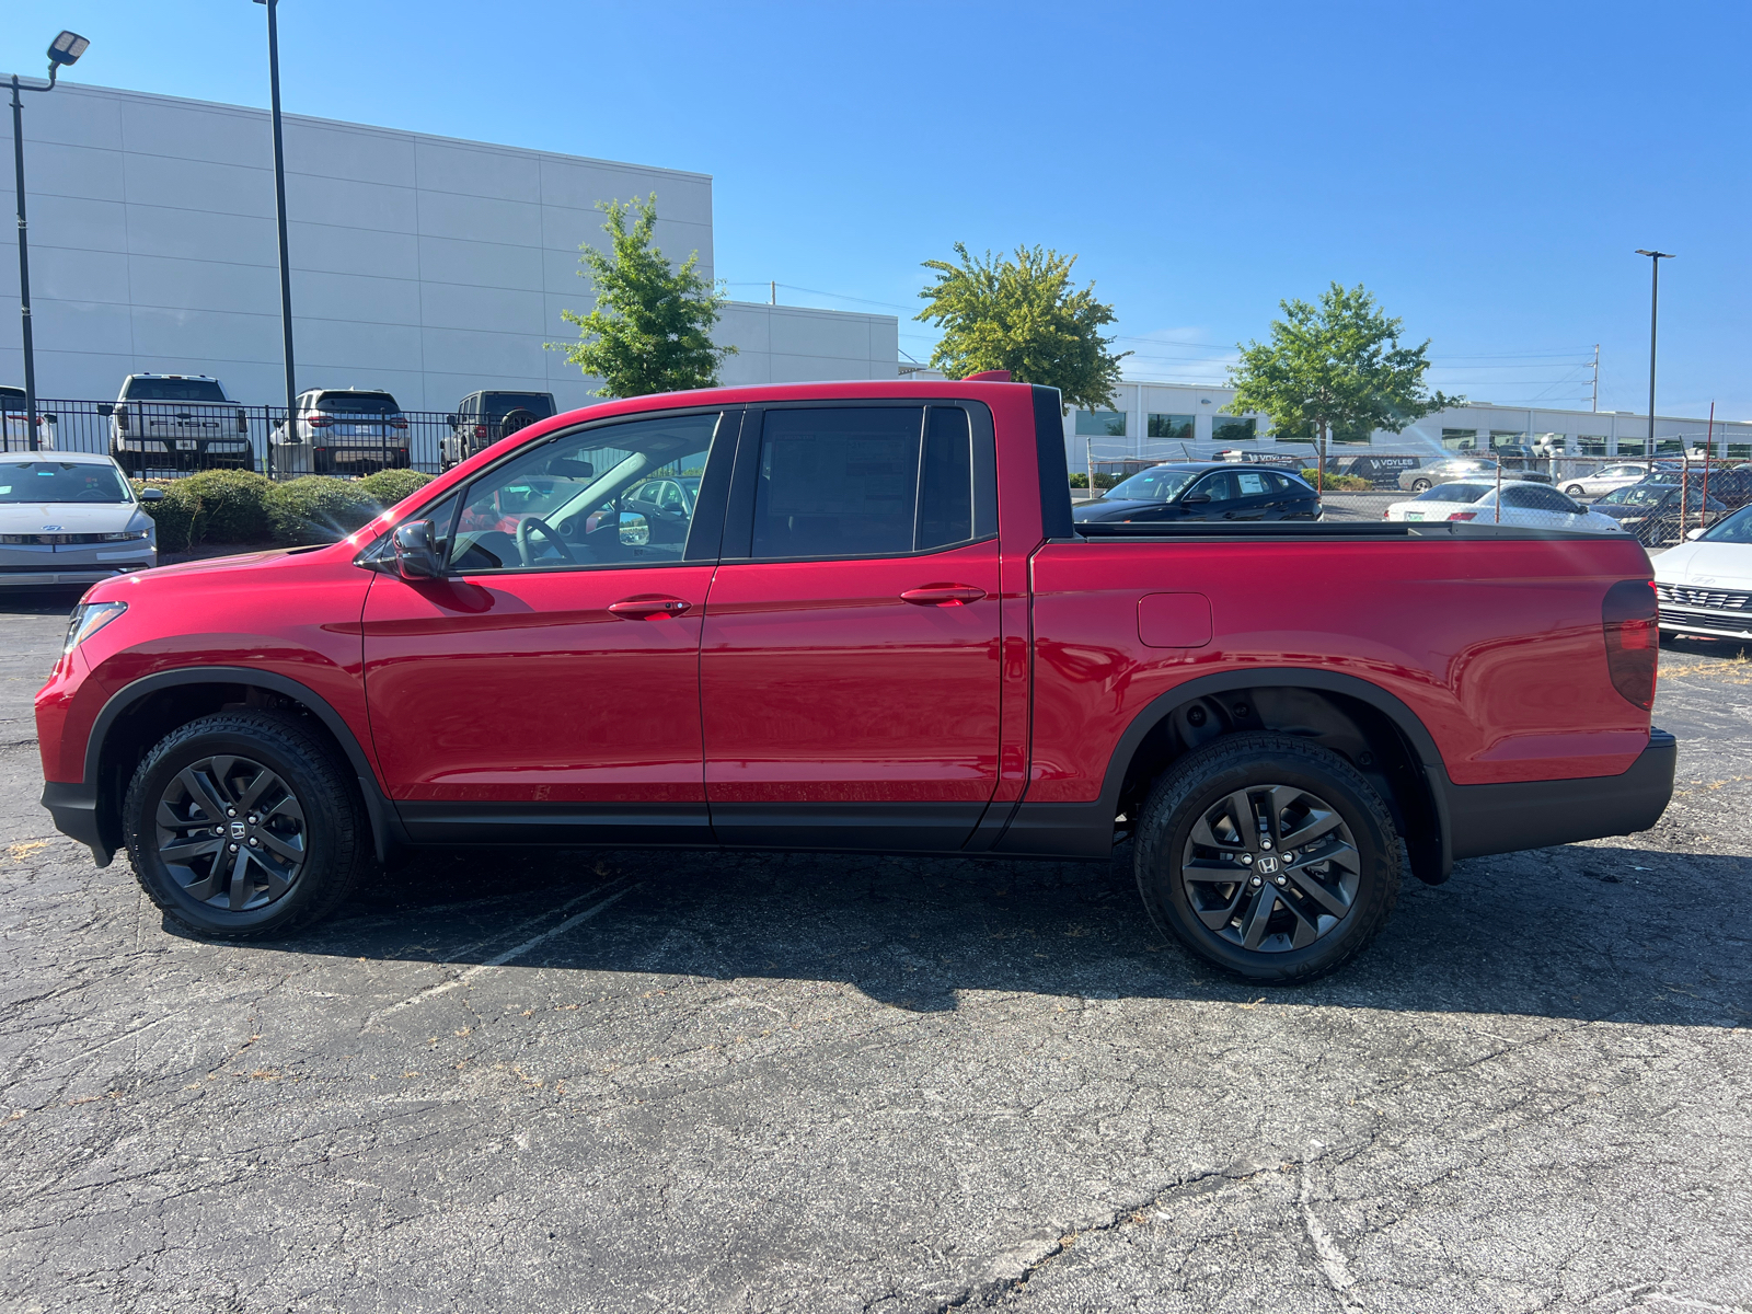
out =
[[[974,459],[974,536],[957,543],[941,543],[929,548],[911,548],[908,552],[851,552],[844,555],[802,555],[802,557],[757,557],[753,555],[755,538],[755,478],[760,470],[760,438],[766,429],[766,412],[769,410],[869,410],[906,408],[925,410],[920,427],[920,461],[923,463],[925,434],[930,429],[930,406],[955,408],[967,412],[967,426],[972,436]],[[701,489],[704,492],[704,489]],[[787,401],[752,401],[743,417],[743,433],[736,445],[736,471],[731,477],[729,508],[724,519],[724,547],[718,562],[724,566],[778,566],[787,562],[811,561],[906,561],[911,557],[936,557],[944,552],[960,552],[978,543],[990,543],[997,538],[997,429],[992,420],[992,408],[985,401],[972,398],[820,398]],[[915,541],[918,524],[918,485],[913,487]],[[990,531],[985,529],[990,520]],[[741,552],[736,552],[741,548]]]

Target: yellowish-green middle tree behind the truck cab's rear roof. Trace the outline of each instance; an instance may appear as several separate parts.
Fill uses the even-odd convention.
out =
[[[1070,286],[1076,256],[1016,247],[1016,258],[974,259],[955,244],[960,265],[927,259],[937,279],[920,293],[929,305],[918,319],[943,329],[930,364],[950,378],[981,370],[1009,370],[1023,384],[1056,387],[1069,406],[1106,410],[1120,382],[1120,361],[1100,336],[1113,307],[1095,300],[1095,284]]]

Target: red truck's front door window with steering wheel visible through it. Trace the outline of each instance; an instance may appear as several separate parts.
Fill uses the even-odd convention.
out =
[[[657,482],[694,496],[720,413],[585,429],[540,443],[468,485],[450,569],[538,571],[682,561],[692,513],[655,515]]]

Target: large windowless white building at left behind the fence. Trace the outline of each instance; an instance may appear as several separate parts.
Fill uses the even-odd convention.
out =
[[[545,342],[589,310],[578,245],[601,200],[657,193],[657,245],[713,272],[711,177],[286,116],[298,387],[380,387],[449,410],[482,387],[594,384]],[[0,116],[0,154],[12,154]],[[137,371],[286,396],[268,114],[63,82],[26,96],[37,392],[112,399]],[[727,384],[894,378],[899,324],[731,303]],[[0,382],[23,384],[18,249],[0,226]]]

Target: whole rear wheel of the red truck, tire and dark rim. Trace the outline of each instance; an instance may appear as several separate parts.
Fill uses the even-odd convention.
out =
[[[1354,958],[1400,892],[1388,806],[1347,760],[1289,734],[1235,734],[1177,762],[1137,827],[1155,923],[1249,981]]]

